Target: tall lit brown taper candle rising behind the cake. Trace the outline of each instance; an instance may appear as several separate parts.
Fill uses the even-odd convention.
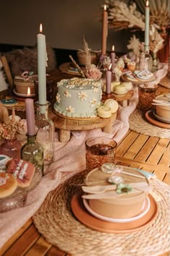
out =
[[[104,4],[103,22],[102,22],[102,54],[106,54],[107,51],[107,6]]]

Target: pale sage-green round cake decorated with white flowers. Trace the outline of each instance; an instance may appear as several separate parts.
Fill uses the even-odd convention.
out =
[[[54,109],[74,118],[93,118],[101,105],[102,85],[98,80],[73,77],[58,82]]]

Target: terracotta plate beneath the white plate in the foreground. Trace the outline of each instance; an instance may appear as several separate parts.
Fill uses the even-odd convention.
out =
[[[130,233],[134,231],[139,231],[144,229],[146,226],[151,225],[151,223],[156,218],[158,213],[158,206],[156,200],[151,195],[148,195],[150,200],[150,208],[145,216],[139,218],[138,220],[127,222],[127,223],[111,223],[107,221],[102,221],[98,218],[92,216],[84,207],[83,200],[81,198],[82,192],[76,192],[71,200],[71,209],[74,216],[91,229],[102,231],[105,233]]]

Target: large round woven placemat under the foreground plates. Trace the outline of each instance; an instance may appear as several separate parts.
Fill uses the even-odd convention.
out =
[[[145,229],[129,234],[107,234],[81,224],[71,212],[71,198],[84,182],[86,172],[72,176],[51,191],[33,221],[51,244],[75,256],[156,256],[170,250],[169,186],[153,181],[158,215]]]

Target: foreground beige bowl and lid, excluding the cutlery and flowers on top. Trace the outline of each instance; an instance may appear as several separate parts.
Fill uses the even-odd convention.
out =
[[[127,171],[130,174],[137,174],[142,178],[135,176],[129,176],[127,174],[115,174],[116,176],[122,176],[123,179],[127,179],[128,183],[133,182],[146,182],[149,184],[148,179],[146,179],[143,174],[139,171],[135,171],[132,168],[123,166],[123,171]],[[99,168],[96,168],[89,172],[86,176],[86,184],[91,186],[95,185],[107,185],[110,184],[108,181],[110,174],[102,172]],[[148,192],[138,191],[132,194],[124,193],[117,198],[109,199],[90,199],[89,205],[94,212],[109,218],[132,218],[137,216],[145,203]]]

